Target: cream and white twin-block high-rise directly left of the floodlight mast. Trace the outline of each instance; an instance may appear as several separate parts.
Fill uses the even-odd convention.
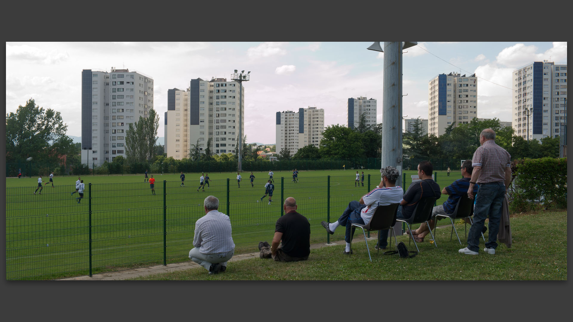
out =
[[[237,81],[226,78],[197,78],[190,81],[187,91],[168,89],[165,113],[165,152],[174,159],[189,157],[190,148],[197,146],[205,151],[211,140],[212,154],[234,152],[238,127],[245,133],[245,112],[242,124],[239,119],[239,90],[242,104],[245,88]]]

